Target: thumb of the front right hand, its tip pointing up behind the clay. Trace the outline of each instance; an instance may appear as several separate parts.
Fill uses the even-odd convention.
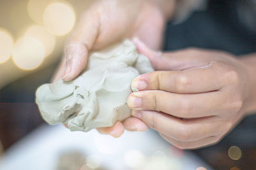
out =
[[[200,67],[209,61],[202,57],[202,51],[197,49],[177,50],[174,52],[156,52],[148,48],[138,38],[132,39],[138,52],[145,55],[156,71],[179,71],[191,67]],[[192,52],[193,51],[193,52]]]

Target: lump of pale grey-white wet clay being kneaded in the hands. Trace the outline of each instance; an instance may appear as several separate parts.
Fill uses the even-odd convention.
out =
[[[129,40],[93,52],[85,71],[73,81],[56,81],[36,91],[36,104],[49,124],[63,122],[71,131],[109,127],[131,116],[127,97],[139,74],[154,71]]]

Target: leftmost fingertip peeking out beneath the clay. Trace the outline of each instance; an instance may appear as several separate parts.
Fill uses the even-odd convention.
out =
[[[101,134],[110,134],[111,136],[118,138],[124,133],[124,125],[121,122],[116,122],[113,127],[99,127],[97,131]]]

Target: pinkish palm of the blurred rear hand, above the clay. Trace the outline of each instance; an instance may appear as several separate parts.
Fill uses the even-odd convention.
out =
[[[132,6],[130,2],[112,4],[101,1],[104,4],[98,12],[100,29],[93,48],[99,49],[126,37],[138,37],[150,48],[159,50],[164,31],[163,14],[156,5],[147,0],[135,2]]]

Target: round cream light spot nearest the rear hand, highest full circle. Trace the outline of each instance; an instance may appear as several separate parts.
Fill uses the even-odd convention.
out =
[[[75,24],[74,10],[67,4],[53,3],[44,11],[44,25],[52,34],[61,36],[71,31]]]

